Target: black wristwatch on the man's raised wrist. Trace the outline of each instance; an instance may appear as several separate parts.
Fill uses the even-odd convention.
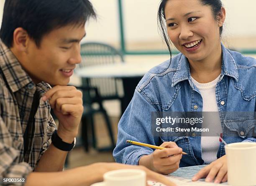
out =
[[[75,141],[76,141],[76,138],[74,138],[74,141],[72,142],[72,144],[62,141],[62,139],[57,134],[57,130],[55,130],[54,133],[51,135],[52,144],[57,149],[60,149],[62,151],[71,151],[74,147]]]

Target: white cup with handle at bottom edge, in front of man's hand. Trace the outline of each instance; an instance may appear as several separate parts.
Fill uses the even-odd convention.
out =
[[[146,186],[146,172],[138,169],[120,169],[103,175],[103,182],[91,186]]]

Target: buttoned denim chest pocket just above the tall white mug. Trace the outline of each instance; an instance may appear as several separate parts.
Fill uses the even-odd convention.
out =
[[[239,118],[232,120],[223,120],[223,136],[229,137],[241,137],[242,139],[247,139],[253,136],[253,131],[255,129],[256,119],[254,118]],[[238,141],[233,141],[238,142]]]

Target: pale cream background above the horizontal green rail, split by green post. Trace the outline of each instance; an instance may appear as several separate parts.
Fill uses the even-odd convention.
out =
[[[86,25],[86,41],[119,42],[118,0],[90,0],[97,21]],[[123,0],[125,38],[133,42],[161,42],[156,22],[160,0]],[[256,0],[222,0],[227,10],[224,37],[256,38]],[[0,22],[4,0],[0,0]]]

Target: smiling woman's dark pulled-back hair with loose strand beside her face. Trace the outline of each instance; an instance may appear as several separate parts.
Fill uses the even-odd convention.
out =
[[[157,22],[158,22],[159,30],[161,31],[161,35],[162,35],[164,41],[166,42],[166,45],[170,52],[170,56],[172,58],[172,52],[171,52],[171,48],[170,48],[170,40],[169,40],[169,37],[167,34],[166,25],[164,23],[165,22],[164,8],[165,8],[167,1],[168,0],[161,0],[161,2],[160,2],[159,9],[157,12]],[[218,21],[218,18],[221,14],[221,9],[222,9],[221,0],[200,0],[200,2],[202,5],[211,7],[214,19],[216,21]],[[220,35],[222,34],[222,30],[223,30],[223,27],[220,27]]]

